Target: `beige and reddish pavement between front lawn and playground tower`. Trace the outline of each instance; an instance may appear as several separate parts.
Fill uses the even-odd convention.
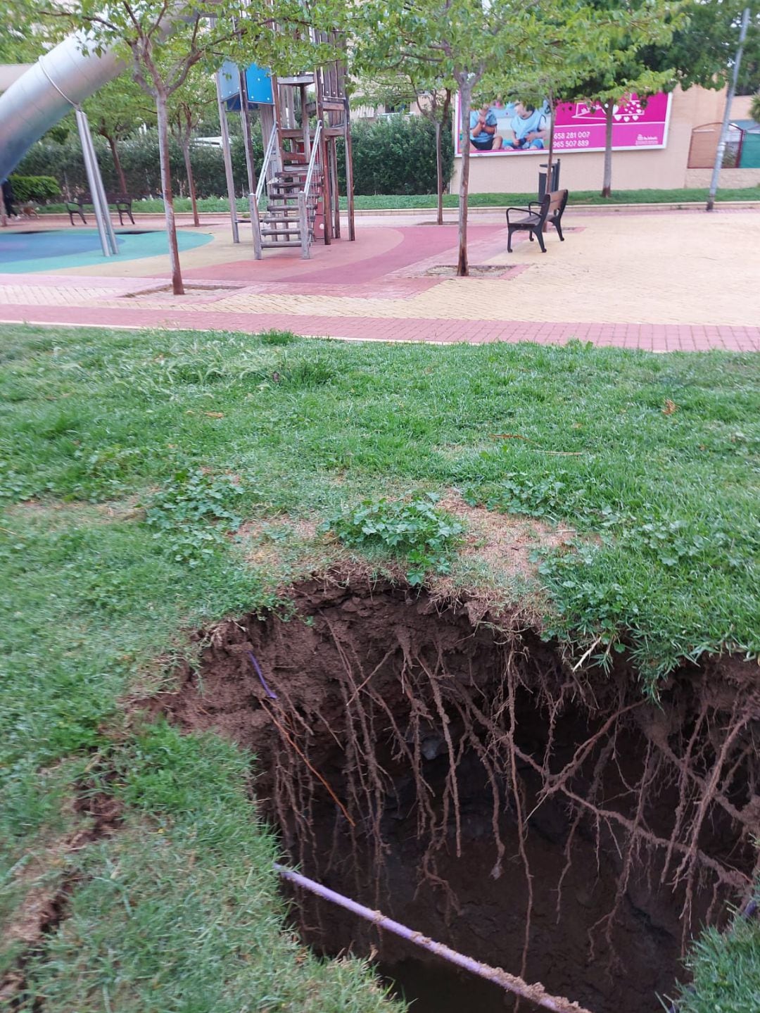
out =
[[[0,318],[257,331],[367,340],[564,342],[648,350],[760,350],[760,213],[569,213],[567,241],[506,252],[498,221],[475,223],[473,264],[497,276],[429,277],[455,260],[452,225],[359,223],[356,243],[256,262],[225,227],[183,256],[187,296],[162,258],[56,275],[0,275]],[[741,252],[737,253],[737,245]],[[124,268],[129,266],[130,275]],[[142,277],[136,277],[136,276]]]

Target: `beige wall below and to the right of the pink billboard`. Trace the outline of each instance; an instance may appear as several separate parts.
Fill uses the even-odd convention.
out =
[[[708,185],[709,171],[688,169],[691,131],[702,124],[720,123],[723,120],[726,91],[708,91],[704,88],[689,88],[673,93],[670,110],[670,128],[667,146],[649,151],[615,151],[612,155],[613,189],[680,189],[683,186]],[[734,100],[734,119],[748,119],[751,96]],[[562,159],[561,185],[569,189],[601,189],[604,153],[567,152],[559,153]],[[527,193],[535,190],[538,166],[545,162],[546,152],[524,155],[474,155],[470,162],[471,193]],[[454,159],[454,174],[451,190],[459,185],[461,157]],[[707,171],[707,182],[690,182],[690,173]],[[729,183],[729,173],[736,175],[736,182]],[[724,169],[721,178],[725,185],[755,186],[757,170]],[[701,179],[701,176],[699,176]],[[740,181],[741,180],[741,181]],[[746,180],[746,181],[745,181]]]

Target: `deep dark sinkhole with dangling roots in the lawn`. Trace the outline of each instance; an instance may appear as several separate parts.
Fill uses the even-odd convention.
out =
[[[366,578],[307,581],[292,600],[287,621],[216,627],[199,668],[159,698],[185,727],[256,754],[259,805],[289,861],[594,1013],[660,1008],[692,936],[751,888],[756,668],[684,667],[656,703],[624,658],[573,672],[478,600]],[[370,954],[418,1013],[513,1008],[290,897],[307,942]]]

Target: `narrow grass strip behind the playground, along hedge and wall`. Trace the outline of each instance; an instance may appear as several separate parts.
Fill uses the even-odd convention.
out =
[[[616,190],[611,198],[602,198],[598,190],[577,190],[571,191],[570,204],[593,204],[599,207],[608,207],[614,204],[703,204],[707,200],[706,189],[640,189],[640,190]],[[760,201],[760,186],[752,186],[746,189],[722,189],[719,190],[717,201]],[[535,193],[471,193],[471,208],[508,208],[510,205],[525,205],[528,201],[535,201]],[[340,206],[346,208],[346,199],[340,199]],[[444,208],[458,207],[456,193],[446,193],[443,197]],[[381,211],[388,209],[426,209],[436,208],[436,199],[433,193],[418,194],[369,194],[355,198],[357,211]],[[191,211],[190,199],[177,197],[174,199],[176,211]],[[198,208],[204,212],[222,212],[229,208],[225,198],[207,197],[198,201]],[[164,205],[159,199],[136,201],[134,205],[136,213],[159,213],[163,212]],[[66,212],[63,204],[51,204],[41,208],[43,214],[62,214]],[[248,212],[248,202],[244,199],[238,200],[238,211]]]

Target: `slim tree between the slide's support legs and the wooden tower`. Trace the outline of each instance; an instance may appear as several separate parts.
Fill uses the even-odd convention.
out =
[[[205,0],[81,0],[76,9],[51,14],[86,28],[96,52],[120,57],[138,84],[156,103],[161,190],[169,240],[172,291],[183,295],[169,165],[169,99],[193,67],[213,73],[228,57],[241,64],[255,60],[275,71],[313,65],[332,49],[312,42],[319,14],[333,26],[337,0],[248,0],[239,9],[209,8]],[[214,16],[210,16],[213,12]]]

